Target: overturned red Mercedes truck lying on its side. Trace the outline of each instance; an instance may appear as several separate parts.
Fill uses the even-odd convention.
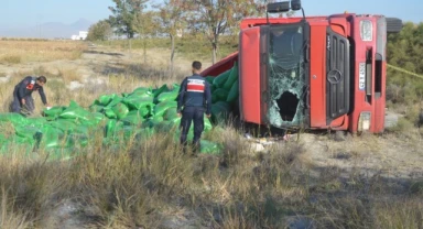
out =
[[[387,33],[399,19],[341,13],[304,17],[300,0],[268,4],[268,13],[299,18],[245,19],[238,52],[203,76],[238,62],[239,113],[245,122],[280,129],[384,130]]]

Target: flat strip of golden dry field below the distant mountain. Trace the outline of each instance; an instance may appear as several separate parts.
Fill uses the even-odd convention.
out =
[[[77,59],[86,44],[70,41],[0,41],[0,64]]]

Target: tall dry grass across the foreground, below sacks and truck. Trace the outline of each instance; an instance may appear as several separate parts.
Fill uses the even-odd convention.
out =
[[[236,130],[214,131],[224,156],[184,155],[173,132],[116,145],[102,145],[97,133],[68,161],[17,149],[0,157],[1,223],[64,227],[70,217],[100,228],[422,227],[421,190],[399,194],[395,181],[355,174],[344,181],[334,168],[313,176],[296,142],[256,154]],[[74,211],[55,216],[64,203]]]

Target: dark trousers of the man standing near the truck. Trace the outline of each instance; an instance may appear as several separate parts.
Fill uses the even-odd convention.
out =
[[[187,145],[187,134],[189,131],[191,123],[194,121],[194,139],[193,145],[194,151],[198,151],[199,139],[204,130],[204,107],[185,107],[182,111],[181,118],[181,144],[185,148]]]

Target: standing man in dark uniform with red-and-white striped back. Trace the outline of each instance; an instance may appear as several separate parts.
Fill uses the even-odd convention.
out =
[[[186,137],[189,131],[191,122],[194,121],[194,152],[200,150],[199,139],[204,130],[204,113],[210,118],[212,112],[212,91],[210,85],[199,75],[202,63],[193,62],[193,75],[186,77],[180,88],[177,97],[177,115],[181,117],[181,144],[186,151]]]

